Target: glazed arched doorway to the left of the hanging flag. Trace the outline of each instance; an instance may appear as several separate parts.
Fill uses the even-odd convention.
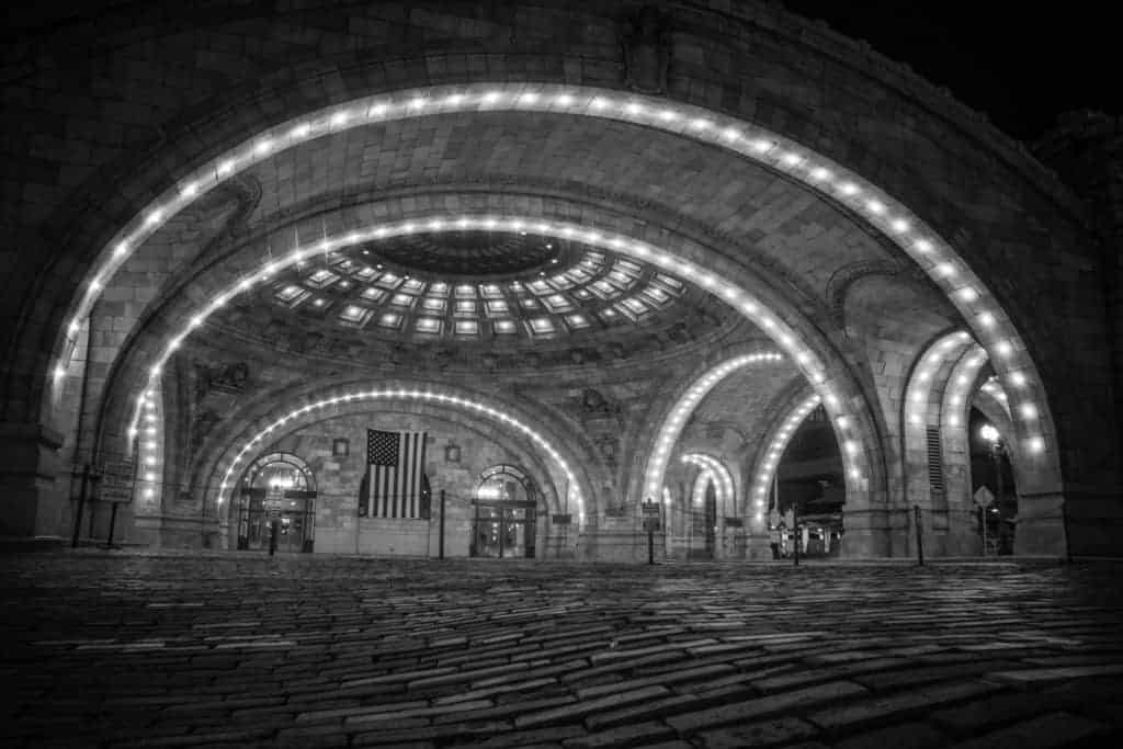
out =
[[[317,492],[308,464],[285,453],[263,456],[238,494],[238,549],[267,550],[275,524],[277,551],[312,551]]]

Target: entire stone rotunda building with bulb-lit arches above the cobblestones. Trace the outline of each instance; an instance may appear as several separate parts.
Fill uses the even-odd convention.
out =
[[[166,12],[10,86],[3,536],[1116,548],[1120,225],[902,66],[757,3]]]

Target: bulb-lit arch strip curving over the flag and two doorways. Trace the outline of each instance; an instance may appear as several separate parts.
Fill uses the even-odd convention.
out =
[[[512,417],[505,411],[493,408],[483,403],[481,401],[473,400],[471,398],[465,398],[462,395],[450,395],[448,393],[435,392],[432,390],[417,390],[417,389],[404,389],[404,387],[374,387],[369,390],[357,390],[343,395],[334,395],[331,398],[325,398],[312,403],[307,403],[300,408],[293,409],[280,419],[273,420],[266,427],[259,429],[250,439],[246,440],[241,449],[235,453],[234,459],[230,465],[227,466],[226,472],[222,474],[222,481],[219,484],[218,491],[218,505],[221,509],[222,501],[226,495],[231,491],[230,477],[234,475],[235,471],[238,469],[239,464],[246,457],[246,455],[259,446],[262,440],[268,435],[273,433],[277,429],[284,427],[290,421],[302,417],[312,411],[319,409],[328,408],[331,405],[338,405],[340,403],[355,403],[363,401],[376,401],[376,400],[416,400],[426,401],[431,403],[455,405],[469,411],[475,411],[477,413],[483,413],[491,417],[502,423],[510,424],[515,428],[535,442],[535,445],[540,448],[546,455],[553,459],[558,468],[562,469],[563,475],[566,477],[566,492],[573,492],[574,501],[577,504],[577,517],[578,522],[584,523],[585,520],[585,500],[582,495],[581,484],[577,482],[577,475],[569,467],[569,464],[562,456],[562,454],[555,448],[549,440],[542,437],[538,431],[528,427],[521,420]],[[565,499],[565,497],[562,497]]]

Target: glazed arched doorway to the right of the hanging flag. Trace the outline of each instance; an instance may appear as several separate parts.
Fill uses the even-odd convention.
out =
[[[501,465],[483,472],[472,504],[471,556],[533,558],[538,492],[524,471]]]

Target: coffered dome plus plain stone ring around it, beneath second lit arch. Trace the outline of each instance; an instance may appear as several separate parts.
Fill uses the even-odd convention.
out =
[[[335,339],[321,349],[412,341],[541,350],[627,339],[633,354],[732,328],[728,311],[630,257],[526,232],[464,231],[412,234],[290,266],[213,322],[240,336],[283,327]]]

